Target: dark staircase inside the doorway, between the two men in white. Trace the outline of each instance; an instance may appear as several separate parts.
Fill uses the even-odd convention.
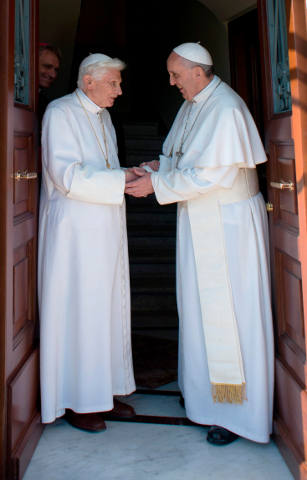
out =
[[[163,137],[154,122],[124,126],[126,166],[158,158]],[[126,196],[132,330],[178,327],[175,290],[176,205],[154,195]]]

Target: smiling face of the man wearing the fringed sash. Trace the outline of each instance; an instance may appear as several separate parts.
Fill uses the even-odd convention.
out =
[[[199,75],[197,75],[196,68],[189,68],[185,60],[177,53],[172,52],[168,57],[167,70],[170,84],[176,85],[185,100],[192,100],[200,92]]]

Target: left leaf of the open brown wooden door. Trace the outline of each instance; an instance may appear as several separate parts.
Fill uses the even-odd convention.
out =
[[[42,430],[33,174],[37,6],[35,0],[15,2],[2,0],[0,6],[0,473],[5,479],[22,478]]]

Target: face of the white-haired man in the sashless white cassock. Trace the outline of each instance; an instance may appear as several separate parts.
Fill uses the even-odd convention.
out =
[[[112,107],[115,98],[122,94],[121,82],[120,71],[110,68],[100,79],[85,75],[83,91],[99,107]]]

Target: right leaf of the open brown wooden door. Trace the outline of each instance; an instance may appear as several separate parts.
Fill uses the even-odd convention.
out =
[[[302,0],[260,0],[258,11],[271,203],[274,433],[295,478],[307,479],[306,4]],[[285,50],[289,54],[290,95]]]

